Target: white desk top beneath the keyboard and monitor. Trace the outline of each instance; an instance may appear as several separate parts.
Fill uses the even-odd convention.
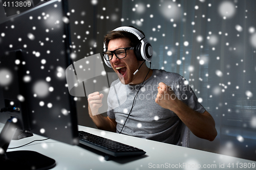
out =
[[[2,128],[3,124],[0,125],[0,131]],[[36,151],[55,159],[56,166],[52,169],[61,170],[256,169],[256,167],[239,168],[241,166],[240,163],[243,163],[243,165],[246,164],[248,166],[252,165],[253,163],[256,165],[256,161],[179,147],[172,144],[121,135],[88,127],[79,126],[78,129],[95,135],[110,138],[125,144],[133,145],[134,147],[143,149],[146,154],[137,157],[113,158],[110,161],[105,161],[104,155],[98,151],[92,150],[90,148],[83,149],[76,145],[69,145],[52,139],[36,141],[18,149],[8,149],[7,152],[18,150]],[[18,147],[19,145],[26,144],[32,140],[44,138],[45,137],[39,135],[34,135],[33,137],[20,140],[12,140],[9,148]],[[162,168],[160,168],[161,164]],[[230,165],[230,168],[228,167],[228,164]],[[221,168],[220,165],[224,168]],[[199,166],[201,166],[201,168],[199,168]],[[203,168],[203,166],[206,168]]]

